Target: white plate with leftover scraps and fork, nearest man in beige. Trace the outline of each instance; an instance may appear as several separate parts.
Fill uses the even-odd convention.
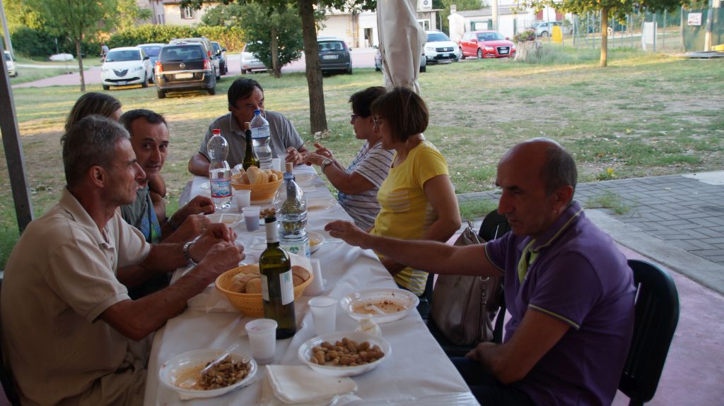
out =
[[[251,363],[251,370],[241,381],[223,388],[211,389],[208,391],[182,389],[175,385],[177,380],[185,379],[186,374],[190,369],[193,368],[196,371],[200,371],[201,368],[206,366],[206,363],[221,355],[223,352],[224,350],[195,350],[176,355],[174,358],[167,360],[161,365],[161,369],[159,369],[159,379],[161,380],[161,384],[164,384],[169,389],[172,389],[180,394],[182,399],[190,399],[191,397],[216,397],[250,384],[251,379],[256,374],[256,361],[244,353],[234,352],[231,353],[232,357]]]

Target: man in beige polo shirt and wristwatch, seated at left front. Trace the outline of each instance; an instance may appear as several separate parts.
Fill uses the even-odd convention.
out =
[[[2,285],[3,345],[23,405],[140,405],[149,334],[244,258],[212,224],[189,243],[151,245],[119,215],[145,173],[128,133],[88,116],[63,136],[67,188],[28,225]],[[132,301],[151,272],[198,262],[164,290]]]

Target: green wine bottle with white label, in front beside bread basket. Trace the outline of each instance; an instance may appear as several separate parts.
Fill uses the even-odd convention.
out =
[[[277,217],[264,219],[266,249],[259,257],[261,273],[261,298],[264,301],[264,317],[277,321],[277,340],[292,337],[297,332],[294,313],[294,281],[289,254],[279,247]]]

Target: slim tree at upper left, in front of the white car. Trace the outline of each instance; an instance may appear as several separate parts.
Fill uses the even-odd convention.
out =
[[[101,22],[110,20],[116,12],[116,0],[25,0],[25,2],[41,15],[52,31],[59,35],[67,35],[75,42],[80,91],[85,92],[80,42],[86,35],[97,33]]]

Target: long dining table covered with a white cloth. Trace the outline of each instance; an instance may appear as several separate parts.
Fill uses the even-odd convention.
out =
[[[295,175],[314,173],[313,168],[300,165]],[[198,194],[209,195],[208,178],[195,176],[180,197],[180,205]],[[206,183],[206,184],[205,184]],[[301,182],[300,182],[301,183]],[[324,243],[312,258],[319,259],[326,282],[323,295],[340,299],[345,295],[368,288],[396,288],[395,282],[379,262],[374,252],[349,246],[329,236],[324,225],[332,220],[351,220],[336,203],[324,181],[314,176],[301,183],[308,199],[307,230],[324,236]],[[271,203],[261,204],[270,207]],[[253,263],[264,249],[264,227],[248,233],[238,225],[237,243],[245,246],[245,262]],[[185,269],[174,272],[172,282]],[[277,340],[274,364],[303,365],[297,358],[303,342],[315,337],[315,329],[303,295],[295,301],[298,331],[288,339]],[[244,316],[209,285],[203,293],[189,301],[189,307],[170,319],[156,332],[148,362],[145,405],[258,405],[265,368],[260,366],[251,384],[233,392],[209,399],[181,400],[172,389],[159,382],[159,368],[175,355],[190,350],[224,349],[237,342],[240,350],[251,353],[244,326],[251,317]],[[353,331],[358,322],[337,306],[337,331]],[[429,333],[417,311],[409,311],[403,319],[380,324],[382,337],[390,342],[389,358],[372,371],[354,376],[358,386],[353,405],[478,405],[462,376],[443,353]]]

